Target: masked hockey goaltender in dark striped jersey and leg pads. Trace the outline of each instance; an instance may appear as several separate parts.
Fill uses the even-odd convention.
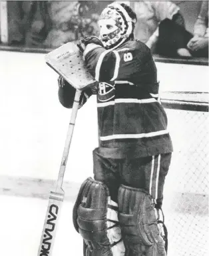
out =
[[[94,179],[83,182],[73,223],[88,256],[165,256],[164,179],[172,142],[158,97],[150,49],[134,39],[136,14],[124,3],[108,5],[100,36],[80,41],[96,83],[83,90],[80,107],[97,94],[99,147]],[[71,108],[75,88],[59,77],[59,101]],[[162,221],[160,220],[162,219]]]

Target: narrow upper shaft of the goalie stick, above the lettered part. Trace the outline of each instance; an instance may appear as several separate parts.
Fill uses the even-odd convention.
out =
[[[79,99],[81,97],[81,91],[77,90],[75,93],[75,99],[74,99],[74,103],[73,103],[73,108],[72,108],[72,113],[71,113],[71,121],[69,123],[69,129],[67,131],[67,139],[65,141],[65,148],[63,151],[63,158],[61,161],[61,167],[59,169],[59,176],[57,179],[57,187],[61,188],[63,185],[63,179],[64,179],[64,175],[65,175],[65,168],[67,165],[67,159],[68,159],[68,155],[69,155],[69,149],[71,146],[71,139],[73,137],[73,130],[74,130],[74,126],[75,126],[75,119],[77,117],[77,111],[79,109]]]

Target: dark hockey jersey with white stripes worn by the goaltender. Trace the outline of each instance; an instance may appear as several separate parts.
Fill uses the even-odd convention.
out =
[[[170,153],[172,142],[150,49],[140,41],[127,41],[113,50],[89,44],[84,57],[99,82],[100,147],[110,149],[116,158],[129,153],[130,157]]]

